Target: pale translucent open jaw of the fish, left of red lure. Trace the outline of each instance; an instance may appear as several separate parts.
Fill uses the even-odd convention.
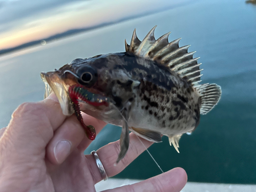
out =
[[[69,86],[55,72],[41,73],[41,79],[46,86],[44,98],[54,92],[59,100],[63,115],[72,115],[74,109],[68,94]]]

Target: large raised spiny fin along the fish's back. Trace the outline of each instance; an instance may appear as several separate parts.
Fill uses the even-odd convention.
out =
[[[140,41],[136,35],[136,29],[133,32],[133,37],[130,46],[125,40],[125,51],[154,60],[164,66],[168,66],[170,70],[178,73],[182,78],[193,86],[199,84],[201,63],[197,63],[197,58],[193,58],[195,52],[187,52],[189,46],[179,47],[181,38],[168,42],[166,33],[163,36],[155,39],[155,26],[146,36]]]

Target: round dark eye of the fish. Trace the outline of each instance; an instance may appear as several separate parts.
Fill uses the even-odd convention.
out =
[[[91,87],[98,79],[97,70],[91,66],[85,65],[77,70],[78,82],[83,86]]]

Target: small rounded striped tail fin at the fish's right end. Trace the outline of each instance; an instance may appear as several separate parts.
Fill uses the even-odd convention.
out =
[[[200,114],[205,115],[219,102],[221,87],[217,84],[200,84],[195,87],[200,95]]]

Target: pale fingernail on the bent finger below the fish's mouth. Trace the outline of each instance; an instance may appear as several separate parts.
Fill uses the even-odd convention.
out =
[[[71,145],[71,142],[68,140],[59,141],[55,145],[53,152],[58,163],[62,163],[68,157]]]

